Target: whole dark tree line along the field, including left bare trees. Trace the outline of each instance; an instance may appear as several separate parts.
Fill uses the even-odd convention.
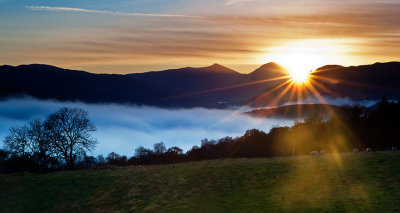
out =
[[[326,120],[318,115],[296,122],[292,127],[275,127],[268,133],[247,130],[236,138],[203,139],[186,153],[179,147],[167,148],[163,142],[153,149],[140,146],[133,157],[111,152],[106,157],[89,156],[96,140],[96,130],[86,111],[62,108],[45,121],[33,120],[22,127],[10,128],[0,150],[0,171],[44,172],[59,169],[87,168],[105,164],[169,164],[218,158],[255,158],[305,155],[313,150],[350,152],[387,150],[400,146],[400,101],[383,97],[372,107],[345,105]]]

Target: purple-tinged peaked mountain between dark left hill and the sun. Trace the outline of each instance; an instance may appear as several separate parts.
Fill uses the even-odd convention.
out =
[[[270,76],[284,76],[284,72],[260,69],[259,75],[241,74],[219,64],[201,68],[180,68],[158,72],[129,74],[131,78],[157,85],[163,91],[169,91],[172,98],[163,98],[163,106],[201,106],[226,107],[243,105],[282,80],[261,82]]]

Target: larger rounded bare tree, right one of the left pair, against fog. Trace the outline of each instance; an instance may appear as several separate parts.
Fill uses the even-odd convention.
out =
[[[91,136],[96,131],[88,113],[79,108],[61,108],[49,115],[44,123],[51,151],[74,168],[77,159],[92,151],[97,141]]]

